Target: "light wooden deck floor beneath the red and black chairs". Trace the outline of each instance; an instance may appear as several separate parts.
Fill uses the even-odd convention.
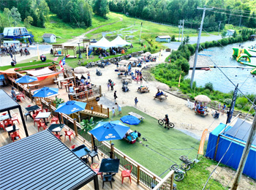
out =
[[[2,89],[4,91],[6,91],[7,94],[10,94],[10,91],[11,91],[10,86],[4,87]],[[22,100],[22,102],[19,102],[19,103],[20,103],[23,111],[25,110],[25,107],[27,107],[29,104],[31,104],[31,105],[34,104],[34,103],[31,103],[31,100],[28,99],[27,97],[25,100],[23,98],[21,100]],[[11,112],[11,114],[18,113],[18,109],[11,110],[10,112]],[[20,115],[18,115],[18,116],[20,117]],[[20,125],[18,125],[17,122],[16,122],[16,125],[18,125],[18,127],[20,129],[19,130],[20,137],[24,138],[24,137],[26,137],[26,134],[24,132],[21,119],[19,119],[19,120],[20,120]],[[29,135],[35,134],[38,132],[37,126],[34,126],[33,120],[29,117],[27,117],[26,126],[29,131]],[[71,145],[82,145],[82,144],[85,144],[87,147],[91,147],[90,143],[83,142],[83,139],[81,139],[80,137],[75,137],[75,138],[72,137],[71,142],[69,142],[68,138],[64,141],[64,130],[62,130],[61,134],[63,135],[63,137],[61,137],[61,141],[64,142],[65,145],[67,145],[67,147],[71,147]],[[7,145],[9,143],[12,143],[12,140],[10,140],[10,138],[8,137],[7,132],[4,132],[3,129],[0,129],[0,147],[3,145]],[[99,159],[100,160],[102,159],[101,153],[99,153]],[[97,157],[94,157],[94,162],[97,162],[100,164],[100,160],[98,160]],[[91,163],[91,159],[90,159],[90,163]],[[114,178],[116,181],[113,182],[112,185],[113,185],[113,189],[116,189],[116,190],[119,190],[119,189],[120,190],[122,190],[122,189],[127,189],[127,190],[128,189],[134,189],[134,190],[148,189],[145,186],[138,184],[134,178],[132,178],[132,184],[129,183],[129,178],[124,178],[124,183],[122,185],[121,184],[121,170],[119,170],[119,172],[116,174],[116,176]],[[102,179],[100,178],[100,176],[98,177],[98,179],[99,179],[99,189],[102,189]],[[83,188],[81,188],[81,189],[83,189],[83,190],[94,189],[94,182],[91,181],[86,186],[83,186]],[[111,189],[110,183],[105,183],[104,189]]]

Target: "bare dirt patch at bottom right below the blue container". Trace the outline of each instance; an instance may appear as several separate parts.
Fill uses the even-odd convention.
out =
[[[208,167],[207,170],[211,172],[212,170],[214,170],[214,167],[215,165],[211,165],[211,167]],[[227,189],[230,189],[230,187],[233,184],[233,177],[235,174],[236,174],[236,171],[231,170],[228,167],[217,167],[213,175],[211,175],[211,178],[219,181],[219,183],[222,183],[222,186],[227,187]],[[252,180],[252,178],[242,175],[238,189],[239,190],[256,189],[255,180]]]

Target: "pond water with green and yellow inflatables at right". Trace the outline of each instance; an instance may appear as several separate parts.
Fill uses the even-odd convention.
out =
[[[255,45],[256,42],[243,42],[241,43],[244,47]],[[238,47],[239,43],[227,45],[225,47],[211,47],[205,51],[201,51],[199,54],[205,54],[208,56],[197,56],[197,65],[214,65],[217,66],[246,66],[240,64],[232,57],[232,47]],[[252,53],[252,51],[249,51]],[[214,61],[214,62],[213,62]],[[256,64],[256,57],[251,57],[251,62]],[[189,63],[194,63],[194,56],[190,58]],[[239,88],[244,94],[256,94],[256,76],[251,75],[252,70],[250,66],[246,66],[248,69],[241,68],[220,68],[222,72],[230,78],[235,84],[239,84]],[[235,89],[235,86],[222,74],[217,68],[211,68],[211,71],[195,70],[194,81],[197,86],[205,86],[206,83],[211,82],[214,85],[214,90],[228,93]],[[192,70],[189,70],[189,75],[186,76],[191,78]]]

